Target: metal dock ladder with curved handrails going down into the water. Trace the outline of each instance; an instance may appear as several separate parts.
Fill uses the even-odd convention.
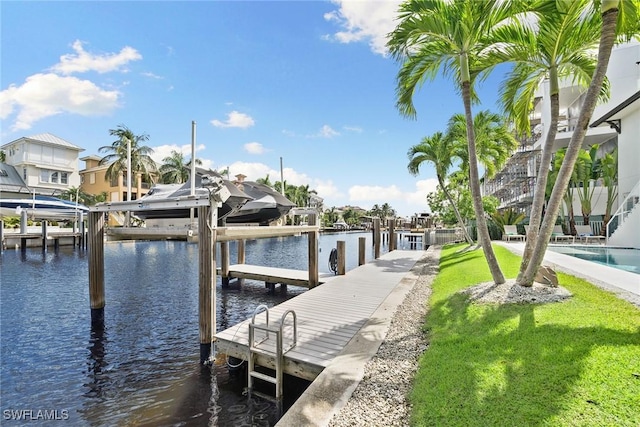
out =
[[[265,312],[265,315],[266,315],[266,324],[256,325],[255,323],[256,316],[259,313],[262,313],[263,311]],[[284,321],[289,314],[293,316],[293,341],[286,349],[284,349],[282,331],[284,328]],[[266,336],[263,339],[261,339],[259,342],[256,342],[255,340],[256,329],[264,331],[266,333]],[[269,342],[270,334],[274,334],[276,338],[275,350],[273,349],[273,345],[271,345],[270,348],[264,347],[264,344],[273,343],[272,341]],[[269,308],[266,305],[259,305],[254,310],[253,317],[251,318],[251,323],[249,324],[249,358],[248,358],[249,371],[247,375],[249,393],[253,391],[253,380],[255,378],[258,378],[260,380],[269,382],[271,384],[275,384],[276,386],[275,399],[276,401],[282,400],[282,371],[284,369],[284,354],[296,346],[297,337],[298,337],[298,325],[297,325],[295,311],[293,310],[285,311],[282,314],[282,317],[280,318],[280,324],[271,326],[269,325]],[[260,345],[263,345],[263,347],[260,347]],[[275,376],[263,374],[255,370],[256,355],[263,355],[263,356],[275,358],[275,365],[276,365]]]

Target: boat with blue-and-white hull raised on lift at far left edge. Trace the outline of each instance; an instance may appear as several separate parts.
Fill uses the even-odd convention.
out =
[[[28,193],[3,194],[0,198],[0,216],[20,216],[22,211],[37,220],[71,220],[87,215],[89,208],[51,196],[31,195]]]

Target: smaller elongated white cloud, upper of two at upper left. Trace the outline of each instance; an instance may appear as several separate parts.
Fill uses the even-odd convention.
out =
[[[142,55],[130,46],[123,47],[119,53],[100,55],[85,51],[82,45],[80,40],[76,40],[72,45],[75,53],[62,55],[60,62],[51,67],[51,71],[64,75],[87,71],[97,71],[101,74],[111,71],[126,72],[125,66],[129,62],[142,59]]]

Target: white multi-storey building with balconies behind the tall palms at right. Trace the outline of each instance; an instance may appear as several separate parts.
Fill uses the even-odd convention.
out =
[[[583,148],[599,145],[598,156],[617,148],[618,197],[613,205],[608,243],[640,248],[640,43],[626,43],[614,48],[607,70],[610,98],[596,106]],[[554,150],[566,147],[573,135],[586,89],[561,83],[560,119]],[[529,213],[540,160],[551,119],[549,85],[538,91],[532,113],[533,135],[522,141],[520,148],[505,168],[484,183],[484,194],[500,201],[499,209],[514,208]],[[590,225],[599,233],[606,206],[606,188],[595,182]],[[581,224],[580,200],[575,195],[573,210]],[[567,209],[565,209],[567,212]]]

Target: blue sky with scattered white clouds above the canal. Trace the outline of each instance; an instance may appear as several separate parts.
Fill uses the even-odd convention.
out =
[[[416,120],[395,107],[386,55],[396,1],[0,2],[1,144],[49,132],[99,155],[109,129],[149,135],[161,161],[191,153],[248,179],[309,185],[325,207],[428,211],[433,168],[407,150],[462,101],[427,83]],[[497,82],[478,87],[495,109]],[[80,168],[84,162],[80,162]]]

